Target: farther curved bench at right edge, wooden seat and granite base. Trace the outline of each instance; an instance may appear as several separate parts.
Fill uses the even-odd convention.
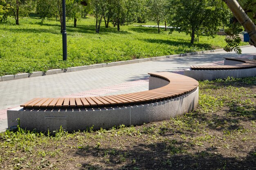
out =
[[[227,77],[254,77],[256,76],[256,60],[225,58],[224,65],[191,66],[190,69],[184,71],[184,75],[201,81]]]

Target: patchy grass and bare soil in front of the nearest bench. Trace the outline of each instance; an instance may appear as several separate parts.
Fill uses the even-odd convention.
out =
[[[0,133],[2,170],[255,170],[256,77],[200,82],[196,110],[136,127]]]

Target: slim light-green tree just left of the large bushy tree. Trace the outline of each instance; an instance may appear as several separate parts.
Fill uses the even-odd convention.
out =
[[[149,1],[149,18],[156,22],[158,26],[158,33],[160,33],[159,24],[164,20],[166,0],[150,0]]]

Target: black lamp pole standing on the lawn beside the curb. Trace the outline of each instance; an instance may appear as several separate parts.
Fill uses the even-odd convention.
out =
[[[65,0],[62,0],[62,47],[63,47],[63,60],[67,60],[67,31],[66,31],[66,4]]]

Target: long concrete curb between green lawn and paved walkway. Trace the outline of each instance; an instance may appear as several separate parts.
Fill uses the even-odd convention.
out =
[[[249,47],[249,46],[250,45],[240,46],[240,48],[245,48],[245,47]],[[198,54],[212,53],[212,52],[217,52],[217,51],[224,51],[224,50],[223,49],[216,49],[216,50],[208,50],[208,51],[198,51],[198,52],[192,52],[192,53],[165,55],[165,56],[160,56],[160,57],[141,58],[141,59],[136,59],[136,60],[127,60],[127,61],[120,61],[120,62],[93,64],[93,65],[89,65],[89,66],[77,66],[77,67],[70,67],[70,68],[66,68],[66,69],[54,69],[54,70],[48,70],[46,72],[36,71],[36,72],[33,72],[33,73],[19,73],[19,74],[16,74],[16,75],[4,75],[4,76],[0,77],[0,82],[14,80],[14,79],[23,79],[23,78],[29,78],[29,77],[38,77],[38,76],[44,76],[44,75],[54,75],[54,74],[59,74],[59,73],[82,71],[82,70],[88,70],[88,69],[93,69],[93,68],[120,66],[120,65],[124,65],[124,64],[134,64],[134,63],[139,63],[139,62],[162,60],[162,59],[166,59],[166,58],[198,55]]]

